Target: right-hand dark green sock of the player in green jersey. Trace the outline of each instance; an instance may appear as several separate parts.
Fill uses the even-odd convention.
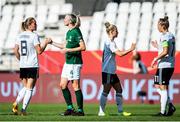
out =
[[[78,111],[83,112],[83,94],[81,90],[75,91]]]

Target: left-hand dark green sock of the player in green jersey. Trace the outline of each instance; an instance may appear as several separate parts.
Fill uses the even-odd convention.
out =
[[[73,108],[71,93],[70,93],[69,89],[68,88],[62,89],[62,93],[63,93],[64,99],[66,101],[66,104],[68,106],[68,109]]]

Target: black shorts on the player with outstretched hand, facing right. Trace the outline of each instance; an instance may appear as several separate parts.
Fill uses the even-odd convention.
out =
[[[115,84],[118,83],[119,78],[116,74],[109,74],[109,73],[105,73],[102,72],[102,84]]]

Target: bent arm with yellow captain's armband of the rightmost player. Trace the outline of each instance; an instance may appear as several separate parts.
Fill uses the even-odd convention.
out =
[[[153,59],[152,63],[151,63],[151,67],[154,66],[154,64],[161,58],[165,57],[168,54],[168,42],[167,41],[163,41],[163,51]]]

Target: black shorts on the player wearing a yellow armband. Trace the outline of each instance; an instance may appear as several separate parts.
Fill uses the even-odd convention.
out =
[[[174,72],[174,68],[159,68],[154,76],[154,84],[169,85],[169,80]]]

